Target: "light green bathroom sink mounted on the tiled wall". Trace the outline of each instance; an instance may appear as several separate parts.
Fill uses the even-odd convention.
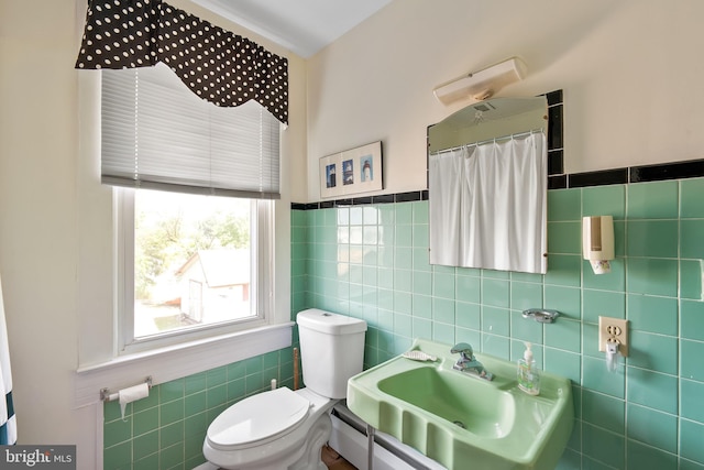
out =
[[[540,395],[518,389],[516,364],[475,354],[492,381],[452,369],[451,346],[416,340],[433,362],[396,357],[348,382],[348,407],[448,469],[551,469],[574,419],[568,379],[542,372]]]

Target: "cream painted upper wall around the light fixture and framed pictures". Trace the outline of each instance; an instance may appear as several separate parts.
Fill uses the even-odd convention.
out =
[[[700,0],[396,0],[309,61],[308,200],[318,159],[382,140],[385,190],[426,188],[432,89],[510,56],[501,96],[564,90],[565,172],[704,156]]]

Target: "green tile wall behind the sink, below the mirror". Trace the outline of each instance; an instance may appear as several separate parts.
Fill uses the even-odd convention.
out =
[[[293,210],[294,311],[369,323],[365,367],[414,338],[516,360],[522,341],[574,383],[559,469],[704,469],[704,179],[550,190],[546,275],[428,264],[428,203]],[[594,275],[582,216],[612,215],[616,260]],[[552,325],[527,307],[562,313]],[[630,320],[631,356],[606,371],[598,316]]]

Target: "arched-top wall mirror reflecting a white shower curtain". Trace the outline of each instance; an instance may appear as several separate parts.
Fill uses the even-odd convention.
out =
[[[548,102],[480,101],[428,127],[430,263],[546,273]]]

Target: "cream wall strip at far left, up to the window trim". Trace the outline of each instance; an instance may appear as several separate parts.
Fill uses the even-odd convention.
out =
[[[0,6],[0,275],[19,438],[75,444],[74,1]]]

